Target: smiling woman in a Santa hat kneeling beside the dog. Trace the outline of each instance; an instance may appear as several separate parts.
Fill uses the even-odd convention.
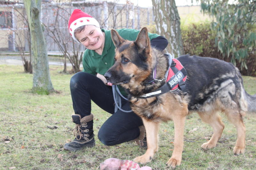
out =
[[[105,145],[116,145],[127,141],[141,142],[145,137],[142,120],[135,113],[115,112],[115,101],[112,87],[107,84],[103,76],[115,63],[115,46],[112,42],[110,30],[100,29],[95,18],[75,9],[68,23],[68,28],[74,40],[82,43],[87,49],[83,56],[83,71],[76,73],[70,80],[70,91],[75,114],[72,120],[76,124],[74,135],[76,138],[64,145],[68,151],[77,151],[82,147],[95,145],[93,134],[93,115],[91,114],[91,100],[100,108],[112,114],[101,126],[98,138]],[[135,41],[139,33],[134,29],[119,29],[117,32],[130,41]],[[148,33],[151,46],[164,50],[168,41],[157,34]],[[123,89],[121,93],[125,95]],[[122,99],[122,109],[131,110],[129,102]]]

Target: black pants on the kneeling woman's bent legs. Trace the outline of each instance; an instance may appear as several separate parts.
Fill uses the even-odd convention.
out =
[[[100,78],[85,72],[76,73],[70,80],[70,91],[75,114],[84,117],[91,114],[91,100],[106,112],[112,114],[101,126],[98,138],[108,146],[131,141],[140,135],[142,120],[135,113],[114,113],[112,87]],[[129,102],[122,100],[122,109],[131,110]]]

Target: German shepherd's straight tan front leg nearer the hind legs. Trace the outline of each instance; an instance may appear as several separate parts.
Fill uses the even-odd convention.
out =
[[[185,119],[186,116],[182,114],[172,116],[172,120],[174,122],[174,149],[172,157],[168,160],[167,164],[173,168],[181,163]]]

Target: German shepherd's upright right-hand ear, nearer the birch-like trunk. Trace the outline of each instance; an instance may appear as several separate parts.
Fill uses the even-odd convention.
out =
[[[141,53],[144,49],[148,51],[148,49],[150,48],[150,40],[148,38],[147,27],[144,27],[140,30],[140,33],[136,41],[134,41],[134,44],[138,47],[139,53]]]

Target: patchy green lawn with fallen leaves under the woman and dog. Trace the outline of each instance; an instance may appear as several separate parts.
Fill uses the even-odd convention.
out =
[[[96,146],[79,152],[63,150],[73,140],[70,115],[73,114],[69,91],[72,75],[61,74],[62,68],[50,66],[52,84],[60,94],[37,95],[31,93],[32,75],[23,72],[22,66],[0,65],[0,170],[15,169],[99,169],[100,162],[114,157],[132,160],[145,150],[127,142],[117,146],[100,143],[97,133],[110,114],[92,103]],[[243,77],[248,93],[256,93],[256,78]],[[203,150],[201,144],[212,135],[209,125],[196,114],[189,115],[185,126],[182,164],[176,169],[256,169],[256,115],[247,115],[246,151],[234,156],[236,129],[228,123],[216,148]],[[194,129],[194,130],[193,130]],[[151,166],[153,170],[171,169],[165,165],[172,155],[173,122],[162,123],[159,133],[159,150]]]

